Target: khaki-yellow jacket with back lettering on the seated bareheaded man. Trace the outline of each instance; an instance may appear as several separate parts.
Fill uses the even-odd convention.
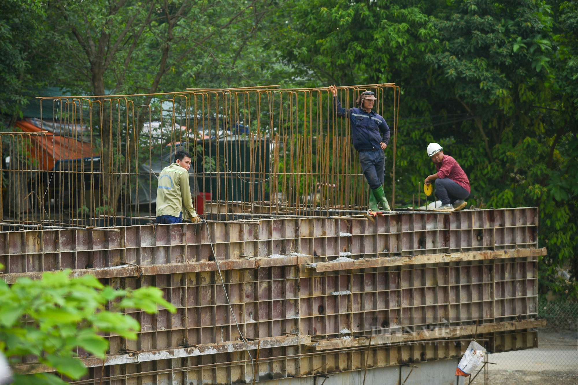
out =
[[[173,163],[158,174],[157,216],[179,216],[181,212],[183,219],[197,216],[195,208],[192,207],[188,171]]]

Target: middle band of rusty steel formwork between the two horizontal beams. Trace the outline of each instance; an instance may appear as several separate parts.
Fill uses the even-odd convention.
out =
[[[531,319],[537,313],[536,269],[535,257],[520,257],[323,274],[303,266],[274,266],[227,270],[222,275],[232,312],[247,338],[286,333],[351,338]],[[513,275],[506,276],[507,271]],[[140,341],[110,337],[112,350],[240,338],[217,272],[106,281],[118,287],[160,287],[177,308],[175,314],[164,310],[153,316],[133,313],[142,324]]]

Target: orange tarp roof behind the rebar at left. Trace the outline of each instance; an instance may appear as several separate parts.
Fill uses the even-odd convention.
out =
[[[96,149],[93,148],[91,151],[90,143],[84,143],[73,137],[55,135],[25,120],[17,121],[16,126],[24,132],[31,133],[28,136],[34,146],[31,157],[36,160],[39,170],[53,170],[58,160],[83,159],[98,155]]]

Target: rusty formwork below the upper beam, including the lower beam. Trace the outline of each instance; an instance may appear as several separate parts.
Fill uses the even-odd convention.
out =
[[[313,369],[327,361],[332,362],[329,372],[362,369],[364,354],[372,354],[370,367],[457,357],[467,344],[452,339],[471,337],[477,328],[477,337],[490,339],[489,348],[495,352],[535,347],[531,328],[543,323],[532,321],[536,269],[536,257],[527,256],[331,272],[304,265],[272,266],[223,271],[223,279],[240,330],[251,340],[254,359],[255,350],[260,351],[259,379],[265,380],[313,375]],[[111,377],[109,383],[124,383],[117,382],[124,376],[118,373],[128,373],[131,365],[128,383],[154,383],[173,375],[194,384],[202,379],[214,384],[252,381],[249,356],[238,341],[217,272],[107,281],[117,287],[160,287],[177,308],[175,314],[131,313],[142,324],[138,341],[108,337],[111,357],[105,377]],[[532,290],[498,292],[495,287],[501,285]],[[508,308],[507,303],[514,307]],[[365,347],[370,338],[375,345],[369,350],[372,353]],[[450,340],[410,343],[432,338]],[[389,346],[402,342],[407,345]],[[139,353],[119,354],[123,349]],[[151,352],[151,358],[146,358],[146,352]],[[94,361],[94,367],[101,363],[88,360]],[[162,367],[162,362],[173,364]],[[141,371],[154,373],[140,375]],[[99,380],[99,368],[91,373],[95,373],[92,379]]]

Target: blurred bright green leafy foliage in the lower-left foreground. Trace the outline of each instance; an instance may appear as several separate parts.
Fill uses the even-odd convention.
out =
[[[87,373],[77,349],[105,358],[113,333],[136,339],[139,323],[124,309],[175,312],[156,287],[114,290],[91,275],[71,278],[71,271],[45,272],[42,279],[20,278],[12,286],[0,279],[0,349],[10,364],[35,356],[58,375],[79,379]],[[65,384],[50,373],[15,375],[15,384]]]

